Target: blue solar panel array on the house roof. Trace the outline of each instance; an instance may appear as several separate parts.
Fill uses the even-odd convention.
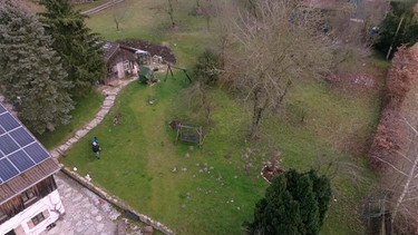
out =
[[[0,184],[47,158],[48,151],[0,104]]]

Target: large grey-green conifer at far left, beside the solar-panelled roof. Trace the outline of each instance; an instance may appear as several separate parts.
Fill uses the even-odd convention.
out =
[[[70,82],[36,16],[0,0],[0,84],[19,119],[42,134],[70,120]]]

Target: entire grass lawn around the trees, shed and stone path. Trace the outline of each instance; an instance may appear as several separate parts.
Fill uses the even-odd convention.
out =
[[[178,63],[191,68],[198,51],[211,45],[206,22],[187,14],[194,6],[187,0],[182,4],[188,8],[177,9],[178,28],[172,30],[167,28],[168,17],[153,8],[158,2],[165,1],[126,0],[129,17],[119,32],[110,9],[94,14],[88,26],[108,40],[167,41]],[[153,87],[128,85],[104,121],[75,144],[61,161],[69,168],[77,167],[81,176],[89,174],[95,184],[177,234],[243,234],[241,224],[252,219],[254,204],[268,187],[260,168],[275,148],[281,151],[283,168],[313,167],[332,177],[336,200],[321,234],[364,233],[359,223],[361,199],[371,190],[373,175],[366,167],[364,156],[350,149],[370,139],[379,115],[377,92],[344,94],[318,81],[295,84],[285,111],[265,116],[261,140],[246,143],[251,104],[214,89],[212,119],[205,124],[186,104],[191,86],[182,76],[177,74],[177,79]],[[149,97],[156,98],[155,105],[148,104]],[[95,101],[89,106],[88,100]],[[99,100],[101,97],[82,102],[86,107],[78,107],[80,117],[74,119],[74,127],[58,130],[66,134],[60,138],[91,118]],[[118,126],[113,125],[116,114],[120,114]],[[175,131],[168,126],[174,118],[203,125],[203,148],[191,150],[189,144],[174,144]],[[94,136],[104,149],[99,160],[88,145]],[[48,139],[54,138],[40,138],[47,147],[60,143]]]

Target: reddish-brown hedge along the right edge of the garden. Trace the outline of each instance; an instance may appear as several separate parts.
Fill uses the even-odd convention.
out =
[[[418,75],[418,51],[400,47],[389,69],[383,97],[383,109],[369,151],[369,163],[376,169],[395,164],[405,144],[406,126],[401,107],[415,77]]]

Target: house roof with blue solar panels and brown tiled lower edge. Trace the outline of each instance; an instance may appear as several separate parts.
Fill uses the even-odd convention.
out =
[[[0,102],[0,204],[61,167]]]

